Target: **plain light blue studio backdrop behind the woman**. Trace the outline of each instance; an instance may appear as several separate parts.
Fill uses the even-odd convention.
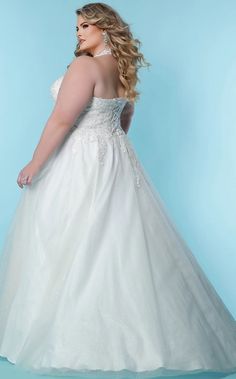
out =
[[[1,4],[1,242],[73,59],[81,1]],[[236,317],[236,1],[107,1],[152,64],[129,137],[173,222]],[[148,217],[148,215],[147,215]]]

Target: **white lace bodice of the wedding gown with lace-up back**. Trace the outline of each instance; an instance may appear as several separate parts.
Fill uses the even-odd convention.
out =
[[[50,87],[54,101],[57,99],[63,77],[64,75],[55,80]],[[120,123],[121,112],[127,101],[123,97],[105,99],[93,96],[71,129],[71,138],[73,139],[72,152],[77,152],[78,141],[98,141],[98,160],[103,165],[107,152],[107,143],[109,140],[111,141],[113,138],[119,137],[122,151],[129,154],[135,172],[136,184],[139,187],[139,163]]]

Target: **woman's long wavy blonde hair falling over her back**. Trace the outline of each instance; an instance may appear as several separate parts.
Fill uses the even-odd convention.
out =
[[[107,4],[88,3],[82,8],[76,9],[75,12],[89,24],[96,25],[107,32],[108,45],[118,62],[119,78],[125,88],[125,97],[130,101],[137,101],[140,95],[135,89],[137,82],[140,81],[138,69],[150,66],[150,63],[139,51],[140,40],[133,37],[129,25]],[[92,56],[90,53],[80,51],[79,43],[76,45],[74,55],[76,57],[80,55]]]

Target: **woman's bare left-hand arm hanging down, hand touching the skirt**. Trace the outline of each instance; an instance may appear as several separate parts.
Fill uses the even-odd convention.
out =
[[[77,57],[62,80],[54,109],[43,129],[31,161],[20,171],[17,184],[31,184],[32,178],[61,145],[66,134],[93,96],[95,70],[93,58]]]

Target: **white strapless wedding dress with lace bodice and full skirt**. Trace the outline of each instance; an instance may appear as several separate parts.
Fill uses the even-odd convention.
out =
[[[0,261],[0,355],[82,378],[236,372],[236,321],[121,128],[126,101],[93,97],[22,190]]]

